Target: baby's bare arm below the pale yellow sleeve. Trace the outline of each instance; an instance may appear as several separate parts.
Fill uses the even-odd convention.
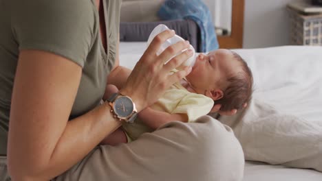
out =
[[[157,129],[160,125],[169,123],[170,121],[188,122],[188,116],[186,114],[170,114],[168,112],[153,110],[152,108],[145,108],[138,114],[138,117],[153,129]]]

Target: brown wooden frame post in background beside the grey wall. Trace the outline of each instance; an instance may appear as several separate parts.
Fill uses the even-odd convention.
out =
[[[230,36],[218,36],[222,49],[239,49],[243,47],[244,4],[245,0],[232,0],[232,23]]]

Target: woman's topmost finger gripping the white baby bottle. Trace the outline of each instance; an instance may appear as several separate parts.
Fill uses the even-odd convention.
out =
[[[151,44],[149,45],[145,53],[147,53],[148,56],[156,56],[156,53],[160,49],[161,45],[167,39],[172,38],[174,35],[175,35],[175,31],[171,29],[165,30],[164,32],[158,34],[153,38]]]

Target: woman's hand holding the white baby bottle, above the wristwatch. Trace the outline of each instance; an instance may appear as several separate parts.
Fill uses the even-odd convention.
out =
[[[120,93],[128,95],[133,99],[138,112],[157,101],[172,84],[178,82],[191,72],[191,67],[186,67],[183,71],[169,75],[171,70],[179,67],[193,55],[193,52],[189,50],[180,53],[189,47],[188,41],[181,41],[171,45],[160,56],[156,55],[160,45],[174,35],[175,32],[173,30],[167,30],[155,36],[151,45],[144,52],[136,67],[134,67],[131,75],[129,75],[125,87],[120,90]],[[180,55],[175,56],[178,53]],[[175,57],[167,64],[164,64],[164,62],[167,62],[173,56]]]

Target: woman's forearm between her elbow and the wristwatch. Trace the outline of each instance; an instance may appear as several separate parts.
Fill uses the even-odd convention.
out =
[[[100,141],[120,127],[113,117],[110,106],[105,103],[81,117],[67,123],[50,158],[47,171],[56,176],[84,158]],[[82,145],[80,147],[80,145]],[[54,173],[56,168],[56,173]]]

